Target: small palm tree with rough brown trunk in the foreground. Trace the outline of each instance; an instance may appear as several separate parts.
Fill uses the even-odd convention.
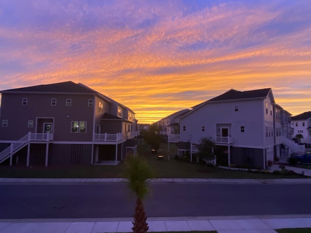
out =
[[[146,212],[142,200],[149,194],[149,182],[154,178],[154,169],[147,160],[139,156],[127,156],[124,161],[123,175],[130,196],[136,195],[133,222],[134,233],[146,233],[149,230]]]

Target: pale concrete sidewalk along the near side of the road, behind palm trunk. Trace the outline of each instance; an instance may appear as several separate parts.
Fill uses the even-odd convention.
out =
[[[150,217],[149,232],[217,231],[276,233],[281,228],[311,228],[311,215]],[[0,219],[0,233],[118,233],[132,232],[130,218]]]

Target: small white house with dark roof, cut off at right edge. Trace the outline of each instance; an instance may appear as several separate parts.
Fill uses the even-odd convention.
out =
[[[293,137],[303,135],[301,143],[311,144],[311,111],[292,116]]]

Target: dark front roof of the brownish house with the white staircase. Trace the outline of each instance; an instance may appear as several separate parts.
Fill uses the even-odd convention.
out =
[[[83,94],[96,94],[97,92],[73,83],[71,81],[62,83],[43,84],[36,86],[21,87],[9,90],[3,90],[5,92],[48,92],[48,93],[83,93]]]

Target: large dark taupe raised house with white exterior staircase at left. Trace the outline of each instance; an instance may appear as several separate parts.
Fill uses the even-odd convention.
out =
[[[0,163],[118,163],[128,153],[136,153],[135,113],[81,83],[0,93]]]

